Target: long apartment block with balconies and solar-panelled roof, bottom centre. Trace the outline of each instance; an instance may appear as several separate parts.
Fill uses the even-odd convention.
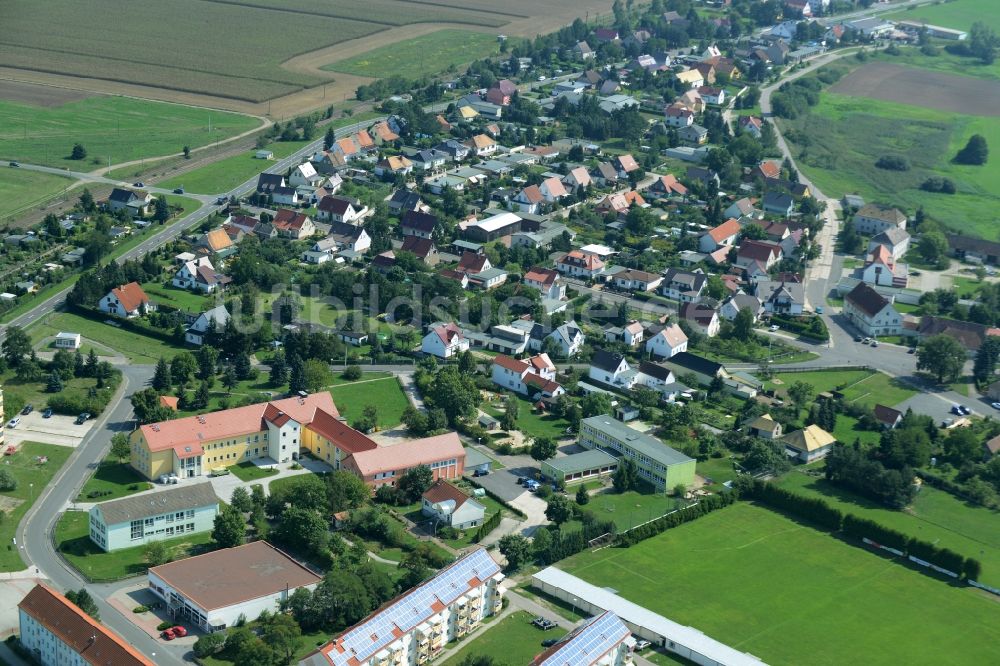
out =
[[[300,666],[373,666],[433,659],[484,617],[500,610],[504,576],[480,548],[390,601],[348,629]]]

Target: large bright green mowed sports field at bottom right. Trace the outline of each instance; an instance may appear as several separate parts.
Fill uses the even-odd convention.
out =
[[[997,602],[739,502],[560,568],[771,664],[993,664]]]

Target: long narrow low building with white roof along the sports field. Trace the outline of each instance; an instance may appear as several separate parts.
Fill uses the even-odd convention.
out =
[[[611,611],[639,638],[679,654],[703,666],[764,666],[764,662],[746,652],[706,636],[654,613],[648,608],[623,599],[617,594],[548,567],[531,577],[532,584],[547,594],[572,603],[585,612],[599,614]],[[566,662],[569,663],[569,662]],[[584,662],[586,663],[586,662]]]

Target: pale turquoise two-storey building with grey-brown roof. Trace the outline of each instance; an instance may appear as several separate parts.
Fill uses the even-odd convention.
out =
[[[114,551],[207,532],[219,498],[208,481],[100,502],[90,509],[90,540]]]

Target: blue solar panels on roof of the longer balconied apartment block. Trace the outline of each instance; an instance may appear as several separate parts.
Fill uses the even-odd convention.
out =
[[[410,632],[434,615],[431,606],[435,601],[448,606],[469,591],[469,581],[473,578],[485,581],[498,573],[500,566],[485,549],[469,553],[345,633],[341,637],[345,651],[338,653],[336,648],[331,650],[331,662],[334,666],[347,666],[351,657],[361,662],[371,659],[396,640],[393,627],[399,627],[403,633]]]

